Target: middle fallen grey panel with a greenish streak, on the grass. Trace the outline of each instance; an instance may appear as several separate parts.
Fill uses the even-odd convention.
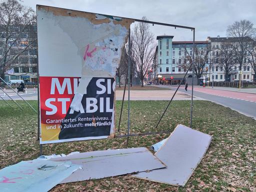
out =
[[[60,183],[104,178],[165,167],[145,147],[82,152],[51,158],[50,160],[68,160],[74,164],[82,165],[82,169],[75,171]]]

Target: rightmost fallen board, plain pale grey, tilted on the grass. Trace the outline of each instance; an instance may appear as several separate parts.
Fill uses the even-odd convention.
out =
[[[200,163],[210,141],[210,135],[179,124],[155,153],[155,156],[167,167],[150,172],[139,172],[132,176],[184,186]]]

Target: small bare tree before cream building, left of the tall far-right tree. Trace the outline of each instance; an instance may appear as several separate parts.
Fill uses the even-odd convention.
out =
[[[235,65],[235,47],[230,42],[222,42],[218,48],[218,65],[223,68],[225,72],[225,81],[228,81],[228,75]]]

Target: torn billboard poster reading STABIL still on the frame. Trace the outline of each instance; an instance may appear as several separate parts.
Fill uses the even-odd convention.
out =
[[[114,76],[133,20],[36,9],[40,143],[112,137]]]

